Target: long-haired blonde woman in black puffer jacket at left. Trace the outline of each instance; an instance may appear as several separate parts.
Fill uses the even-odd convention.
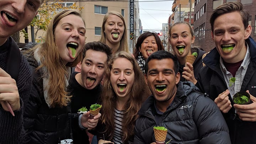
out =
[[[46,42],[24,51],[33,76],[32,94],[24,114],[25,143],[56,144],[72,137],[68,116],[71,112],[66,107],[71,96],[66,87],[71,67],[81,61],[85,32],[80,12],[64,10],[49,23]],[[93,126],[84,121],[87,119],[81,119],[82,126],[87,128],[97,124],[96,119]]]

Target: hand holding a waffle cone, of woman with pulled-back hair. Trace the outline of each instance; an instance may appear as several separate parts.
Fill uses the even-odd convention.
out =
[[[186,63],[186,66],[183,68],[182,77],[187,81],[193,82],[195,85],[197,83],[196,78],[194,77],[193,65],[190,63]]]

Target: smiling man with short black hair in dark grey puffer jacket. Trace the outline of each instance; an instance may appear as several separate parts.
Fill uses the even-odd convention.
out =
[[[192,82],[180,82],[178,61],[158,51],[145,63],[146,81],[152,92],[138,112],[135,144],[155,142],[153,127],[165,127],[166,141],[182,144],[230,144],[229,131],[219,108],[197,92]],[[152,137],[153,136],[153,137]]]

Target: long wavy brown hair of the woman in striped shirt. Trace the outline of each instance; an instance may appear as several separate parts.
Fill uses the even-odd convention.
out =
[[[114,108],[116,107],[117,96],[113,90],[110,81],[111,69],[114,60],[117,58],[126,58],[132,65],[134,70],[134,83],[130,92],[129,100],[124,105],[124,115],[122,120],[123,141],[127,142],[134,135],[135,121],[138,118],[138,111],[143,101],[148,97],[146,94],[146,83],[142,71],[136,60],[127,52],[117,52],[108,62],[106,69],[106,78],[102,91],[102,124],[106,125],[104,133],[111,139],[114,134]]]

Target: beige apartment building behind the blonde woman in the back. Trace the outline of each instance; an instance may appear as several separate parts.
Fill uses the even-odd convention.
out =
[[[63,1],[64,6],[73,5],[75,1]],[[133,3],[133,6],[130,4]],[[118,11],[120,12],[125,19],[126,27],[127,27],[127,38],[129,44],[129,50],[132,52],[133,47],[136,43],[136,38],[140,35],[140,27],[141,22],[139,19],[139,2],[135,2],[134,0],[129,1],[85,1],[79,0],[76,1],[76,5],[79,7],[84,7],[81,10],[82,17],[85,20],[86,24],[86,42],[98,41],[101,36],[101,25],[103,21],[103,17],[108,11]],[[133,17],[130,17],[130,7]],[[130,39],[130,28],[134,30],[133,39]],[[44,31],[40,31],[37,34],[35,39],[43,39]],[[31,41],[31,28],[28,27],[29,41]],[[25,42],[23,36],[21,35],[20,42]]]

